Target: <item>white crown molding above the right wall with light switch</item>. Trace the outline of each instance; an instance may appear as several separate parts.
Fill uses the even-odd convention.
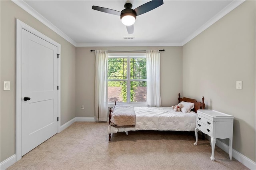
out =
[[[198,28],[194,33],[192,33],[190,36],[188,36],[181,44],[182,46],[188,43],[190,40],[198,36],[201,32],[209,28],[212,24],[220,20],[222,17],[224,17],[226,14],[234,10],[236,7],[238,7],[240,4],[242,4],[245,0],[233,0],[228,6],[226,6],[224,9],[222,9],[218,14],[216,14],[214,17],[212,17],[208,22],[206,22],[204,25],[202,25],[200,28]]]

